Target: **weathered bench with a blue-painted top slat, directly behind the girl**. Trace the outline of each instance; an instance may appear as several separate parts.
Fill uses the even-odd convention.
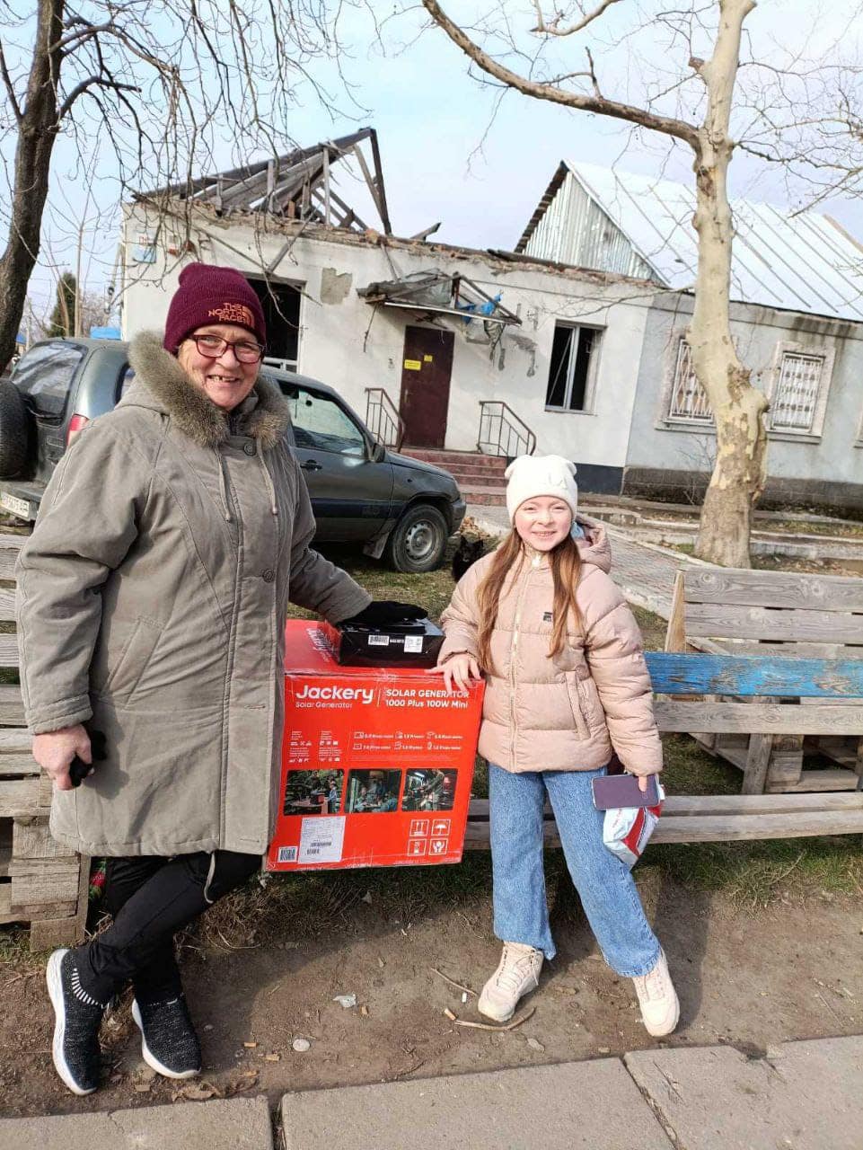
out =
[[[752,793],[671,795],[652,842],[696,843],[752,838],[794,838],[807,835],[863,834],[863,791],[842,793],[765,795],[768,739],[796,730],[792,708],[779,703],[740,703],[740,698],[808,698],[807,729],[841,729],[863,736],[863,660],[783,659],[777,656],[677,654],[649,652],[647,665],[654,691],[656,721],[663,731],[738,730],[753,736],[755,751],[747,762]],[[679,696],[684,696],[680,698]],[[714,696],[730,696],[717,702]],[[846,702],[848,698],[853,702]],[[550,811],[545,839],[560,845]],[[470,805],[465,849],[488,846],[488,802]]]

